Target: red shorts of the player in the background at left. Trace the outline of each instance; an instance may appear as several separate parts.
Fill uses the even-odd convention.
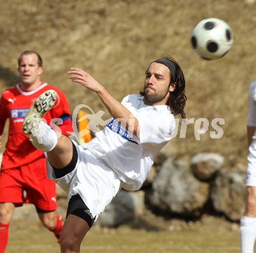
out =
[[[45,158],[19,168],[2,170],[0,202],[11,202],[16,206],[22,206],[25,202],[45,211],[55,211],[56,185],[54,181],[47,179]]]

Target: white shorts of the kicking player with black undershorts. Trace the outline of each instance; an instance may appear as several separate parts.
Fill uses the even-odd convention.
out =
[[[77,145],[76,142],[73,143],[78,154],[74,170],[56,179],[54,169],[47,159],[47,177],[68,193],[67,201],[73,195],[79,194],[90,209],[91,215],[97,220],[99,214],[120,190],[121,181],[101,159],[96,158],[88,149]]]

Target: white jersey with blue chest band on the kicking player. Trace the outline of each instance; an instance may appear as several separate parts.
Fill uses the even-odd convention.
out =
[[[128,95],[122,104],[138,120],[139,136],[131,136],[122,127],[122,119],[112,119],[83,148],[108,164],[118,174],[123,188],[138,190],[151,169],[155,155],[171,139],[175,131],[175,117],[169,106],[145,105],[143,97],[137,94]]]

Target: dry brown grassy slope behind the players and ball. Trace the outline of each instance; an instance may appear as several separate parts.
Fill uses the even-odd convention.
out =
[[[215,151],[245,162],[256,34],[256,3],[247,2],[0,0],[0,64],[16,72],[20,52],[35,49],[44,59],[43,79],[66,92],[72,110],[83,103],[106,111],[95,94],[67,80],[69,67],[87,70],[120,100],[140,90],[152,59],[172,55],[186,74],[187,117],[223,117],[225,126],[221,139],[211,139],[209,129],[201,141],[190,126],[186,138],[175,138],[166,150],[177,156]],[[190,46],[191,30],[206,17],[226,20],[234,33],[232,50],[212,62],[197,58]],[[2,74],[1,89],[6,83]]]

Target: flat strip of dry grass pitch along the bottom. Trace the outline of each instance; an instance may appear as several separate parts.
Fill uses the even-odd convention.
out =
[[[216,222],[216,224],[214,224]],[[220,226],[221,225],[221,226]],[[145,231],[122,226],[119,229],[93,229],[81,245],[90,253],[239,253],[239,233],[212,219],[211,225],[179,231]],[[12,225],[6,253],[59,252],[54,236],[41,225],[26,222]]]

